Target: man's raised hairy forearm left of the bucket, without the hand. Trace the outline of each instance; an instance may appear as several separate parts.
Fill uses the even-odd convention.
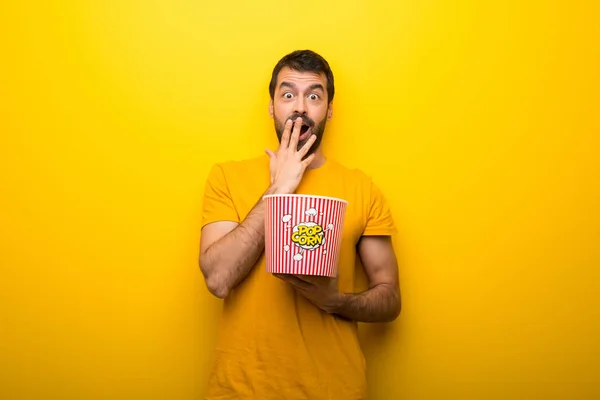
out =
[[[272,193],[268,189],[265,194]],[[264,201],[261,198],[248,216],[231,232],[210,245],[200,265],[209,290],[225,298],[252,270],[265,245]]]

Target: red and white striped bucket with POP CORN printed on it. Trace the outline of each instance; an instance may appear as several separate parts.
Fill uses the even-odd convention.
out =
[[[267,272],[336,276],[348,202],[303,194],[263,199]]]

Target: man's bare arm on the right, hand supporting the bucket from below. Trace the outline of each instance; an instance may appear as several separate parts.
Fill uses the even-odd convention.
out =
[[[390,236],[363,236],[358,254],[369,281],[361,293],[340,293],[337,279],[276,275],[330,314],[359,322],[391,322],[400,315],[398,262]]]

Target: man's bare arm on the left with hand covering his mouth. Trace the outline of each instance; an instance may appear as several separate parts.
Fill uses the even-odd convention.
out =
[[[291,129],[293,126],[293,133]],[[302,119],[286,122],[277,153],[270,157],[271,186],[264,194],[294,193],[314,154],[304,159],[316,140],[311,135],[300,150],[298,137]],[[202,229],[200,240],[200,269],[208,290],[223,299],[250,272],[265,245],[265,212],[261,198],[241,222],[219,221]]]

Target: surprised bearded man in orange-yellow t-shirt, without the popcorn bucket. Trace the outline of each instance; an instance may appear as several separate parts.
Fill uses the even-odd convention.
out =
[[[368,176],[322,152],[334,97],[327,61],[309,50],[286,55],[269,91],[278,150],[217,164],[206,184],[200,267],[225,299],[206,398],[364,399],[357,322],[400,313],[394,222]],[[348,201],[337,278],[266,272],[262,196],[279,193]],[[369,281],[361,293],[353,293],[357,255]]]

